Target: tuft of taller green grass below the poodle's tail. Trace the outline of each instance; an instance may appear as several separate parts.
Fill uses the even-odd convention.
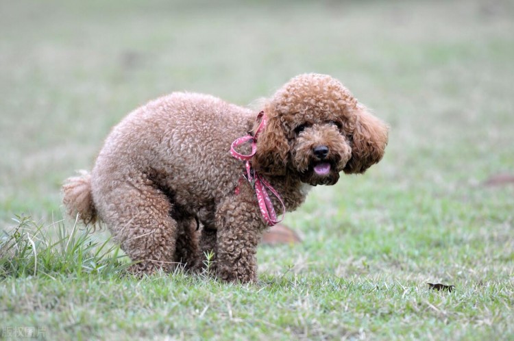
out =
[[[89,238],[92,230],[86,227],[77,232],[62,224],[53,224],[56,240],[43,225],[26,216],[15,219],[16,228],[1,239],[0,277],[27,277],[73,274],[80,279],[83,273],[120,273],[129,264],[120,262],[119,247],[109,246],[110,239],[101,244]]]

